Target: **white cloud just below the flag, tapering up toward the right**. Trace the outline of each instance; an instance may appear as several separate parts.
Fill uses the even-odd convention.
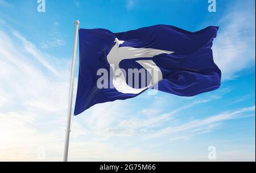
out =
[[[162,110],[155,108],[143,109],[137,114],[130,112],[129,109],[125,109],[126,111],[124,111],[125,107],[129,107],[129,105],[124,102],[117,101],[115,104],[105,103],[100,105],[101,109],[92,107],[89,111],[86,111],[84,115],[81,117],[79,116],[79,120],[76,118],[76,121],[86,122],[84,126],[89,130],[90,134],[105,137],[105,139],[114,136],[141,136],[148,132],[152,132],[154,128],[159,128],[166,122],[173,123],[179,121],[173,116],[179,115],[180,112],[220,99],[222,98],[222,95],[230,91],[230,88],[225,88],[216,92],[215,95],[207,96],[204,99],[191,98],[188,103],[184,104],[184,106],[162,114]],[[163,101],[166,102],[165,99]],[[155,104],[152,105],[156,107]],[[200,134],[200,132],[196,133]]]

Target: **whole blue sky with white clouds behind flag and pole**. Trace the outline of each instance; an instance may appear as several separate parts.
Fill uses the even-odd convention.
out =
[[[93,106],[72,118],[69,161],[255,161],[254,0],[216,0],[216,12],[207,0],[38,5],[0,0],[0,161],[62,161],[76,19],[113,32],[219,26],[213,56],[222,82],[191,98],[144,92]]]

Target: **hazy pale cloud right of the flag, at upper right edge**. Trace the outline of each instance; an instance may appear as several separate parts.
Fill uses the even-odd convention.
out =
[[[223,80],[236,78],[241,70],[255,66],[255,2],[246,6],[232,8],[219,23],[213,54]]]

